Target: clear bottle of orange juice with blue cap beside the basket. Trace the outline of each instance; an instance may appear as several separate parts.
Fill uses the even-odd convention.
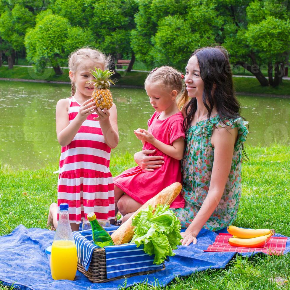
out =
[[[60,204],[59,210],[59,221],[51,246],[51,276],[54,280],[73,280],[77,271],[78,255],[70,227],[68,204]]]

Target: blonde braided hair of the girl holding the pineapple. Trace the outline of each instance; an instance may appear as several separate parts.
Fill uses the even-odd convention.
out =
[[[82,47],[70,53],[68,56],[68,67],[72,72],[76,72],[78,66],[84,61],[91,61],[101,70],[105,70],[109,63],[112,62],[111,57],[105,56],[101,51],[92,47]],[[75,83],[71,80],[72,92],[71,95],[75,94]]]

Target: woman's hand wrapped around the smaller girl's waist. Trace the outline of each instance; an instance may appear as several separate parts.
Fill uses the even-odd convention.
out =
[[[162,166],[164,161],[163,156],[148,156],[148,154],[153,154],[155,153],[154,150],[142,150],[139,152],[136,152],[134,154],[134,160],[135,162],[141,167],[142,170],[144,171],[154,171],[155,168],[159,168]]]

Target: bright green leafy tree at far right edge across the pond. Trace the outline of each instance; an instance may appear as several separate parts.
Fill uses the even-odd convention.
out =
[[[255,13],[257,10],[260,13]],[[253,1],[247,7],[248,42],[263,64],[268,64],[269,84],[282,82],[284,65],[290,53],[289,10],[285,3]],[[274,81],[273,81],[274,68]]]

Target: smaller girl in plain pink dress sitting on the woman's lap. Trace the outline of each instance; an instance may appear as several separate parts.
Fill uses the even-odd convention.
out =
[[[155,150],[150,155],[160,156],[164,162],[158,168],[148,165],[142,170],[136,166],[114,178],[115,213],[120,211],[122,222],[162,189],[182,182],[180,160],[185,134],[183,115],[176,104],[183,88],[182,78],[174,68],[163,66],[149,72],[145,80],[145,90],[155,112],[148,120],[148,131],[138,128],[134,133],[142,141],[143,150]],[[184,204],[179,194],[170,207],[181,208]]]

